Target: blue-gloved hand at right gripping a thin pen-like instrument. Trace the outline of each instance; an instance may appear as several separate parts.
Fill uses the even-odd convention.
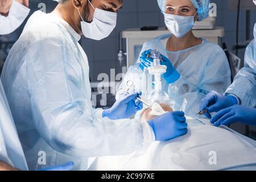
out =
[[[212,118],[210,113],[220,111],[226,107],[236,105],[237,99],[234,96],[223,96],[222,94],[212,90],[203,100],[201,100],[200,110],[208,110],[205,114],[209,119]]]

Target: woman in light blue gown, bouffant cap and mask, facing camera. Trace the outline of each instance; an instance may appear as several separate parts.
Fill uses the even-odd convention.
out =
[[[143,44],[141,55],[143,56],[147,50],[158,49],[163,56],[169,59],[167,61],[170,61],[171,63],[168,65],[176,69],[175,72],[178,72],[180,77],[175,75],[171,76],[174,79],[172,82],[167,82],[163,77],[163,89],[168,92],[169,97],[175,101],[172,105],[172,109],[183,110],[186,115],[194,117],[196,113],[199,112],[201,99],[204,98],[210,90],[214,89],[218,90],[220,93],[224,93],[226,88],[230,85],[230,68],[228,59],[220,46],[210,43],[204,38],[201,38],[200,43],[197,43],[195,46],[190,46],[185,49],[179,48],[176,51],[170,51],[170,49],[168,49],[168,44],[171,42],[173,43],[176,41],[176,44],[178,44],[181,40],[187,39],[187,43],[190,44],[192,40],[195,39],[191,30],[189,30],[187,34],[183,35],[185,30],[182,29],[182,26],[172,27],[173,24],[182,24],[182,22],[171,22],[168,24],[168,16],[170,16],[170,14],[174,14],[175,11],[174,17],[171,17],[170,19],[175,18],[176,15],[179,14],[181,17],[195,15],[194,17],[197,17],[197,20],[203,20],[208,17],[208,0],[191,0],[191,2],[179,0],[158,0],[158,4],[160,10],[166,17],[165,22],[169,30],[176,28],[175,30],[179,31],[175,32],[175,35],[171,32],[171,34],[161,35],[157,38],[148,40]],[[167,4],[170,6],[166,6]],[[171,5],[175,7],[171,7]],[[185,6],[193,6],[193,8],[181,8]],[[178,13],[176,8],[180,10]],[[192,13],[191,10],[193,10]],[[172,40],[172,36],[179,37],[175,37],[175,39]],[[199,40],[198,38],[196,39]],[[146,57],[141,58],[147,60]],[[135,85],[141,84],[143,78],[141,64],[141,59],[139,59],[137,64],[128,69],[125,78],[123,79],[124,81],[120,86],[121,88],[126,88],[125,83],[128,80],[133,80]],[[177,80],[176,78],[179,79]],[[149,78],[148,80],[151,79]],[[151,82],[148,82],[147,86],[148,88],[151,88]],[[119,95],[116,97],[118,98]]]

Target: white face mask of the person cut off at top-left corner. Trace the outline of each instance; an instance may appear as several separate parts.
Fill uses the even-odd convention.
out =
[[[26,19],[30,9],[13,1],[7,17],[0,15],[0,35],[14,32]]]

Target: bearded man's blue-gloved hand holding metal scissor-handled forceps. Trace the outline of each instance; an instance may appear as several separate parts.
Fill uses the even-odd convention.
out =
[[[130,118],[143,108],[142,102],[136,98],[138,95],[141,95],[141,93],[131,93],[120,98],[110,109],[103,111],[102,117],[108,117],[109,119]]]

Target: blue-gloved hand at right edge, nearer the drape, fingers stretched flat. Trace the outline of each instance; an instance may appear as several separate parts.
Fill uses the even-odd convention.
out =
[[[219,111],[210,122],[214,126],[229,125],[234,122],[242,122],[246,125],[256,125],[256,109],[240,105],[233,105]]]

